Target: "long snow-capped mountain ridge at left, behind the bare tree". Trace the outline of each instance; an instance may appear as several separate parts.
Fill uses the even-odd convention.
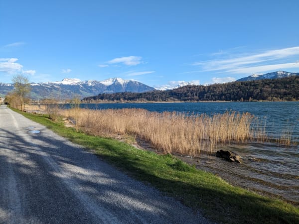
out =
[[[135,92],[142,93],[154,90],[143,83],[123,80],[121,78],[111,78],[103,81],[65,78],[62,81],[46,82],[46,83],[31,83],[30,98],[45,99],[72,99],[74,97],[88,97],[98,95],[100,93],[120,93],[120,92]],[[13,90],[12,84],[0,83],[0,93],[6,95]]]

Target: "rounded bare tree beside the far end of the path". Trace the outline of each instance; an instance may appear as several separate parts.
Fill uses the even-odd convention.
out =
[[[29,80],[26,76],[23,75],[15,75],[12,78],[12,82],[14,83],[14,92],[20,99],[21,111],[24,110],[24,99],[28,93],[31,91]]]

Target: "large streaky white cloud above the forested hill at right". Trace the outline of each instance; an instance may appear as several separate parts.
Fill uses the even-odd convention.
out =
[[[261,53],[234,55],[225,54],[220,59],[194,62],[200,71],[218,71],[221,73],[258,73],[271,70],[299,68],[299,47],[269,50]],[[229,58],[228,58],[229,57]],[[281,63],[281,62],[287,63]],[[199,71],[198,71],[199,72]]]

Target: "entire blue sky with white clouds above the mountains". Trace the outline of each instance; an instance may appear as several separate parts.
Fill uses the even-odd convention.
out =
[[[0,82],[299,72],[299,0],[0,0]]]

